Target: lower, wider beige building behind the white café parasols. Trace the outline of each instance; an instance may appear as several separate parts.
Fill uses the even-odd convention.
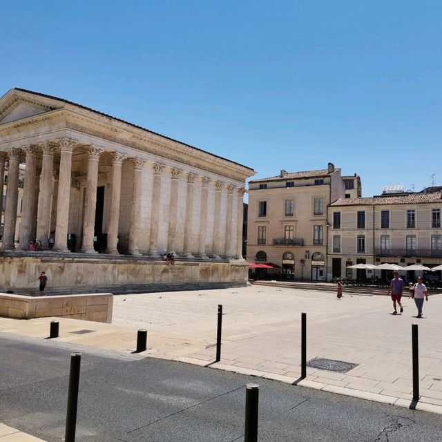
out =
[[[441,212],[439,191],[333,202],[328,213],[329,280],[372,276],[370,271],[347,269],[359,262],[402,266],[418,263],[427,267],[441,264]],[[435,276],[440,278],[440,272]],[[408,274],[407,279],[414,279],[414,274]]]

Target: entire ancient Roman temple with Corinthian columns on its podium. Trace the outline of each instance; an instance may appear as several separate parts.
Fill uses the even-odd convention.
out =
[[[0,289],[33,287],[43,269],[52,287],[247,279],[242,204],[254,171],[246,166],[23,89],[0,99],[2,177],[6,166]],[[43,252],[28,250],[35,239]],[[161,260],[168,251],[176,255],[172,269]]]

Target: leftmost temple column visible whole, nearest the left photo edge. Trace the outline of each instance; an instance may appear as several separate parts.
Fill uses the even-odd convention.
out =
[[[3,223],[3,250],[15,249],[15,224],[17,222],[17,204],[19,196],[19,164],[21,150],[8,151],[9,171],[8,186],[6,188],[6,206]]]

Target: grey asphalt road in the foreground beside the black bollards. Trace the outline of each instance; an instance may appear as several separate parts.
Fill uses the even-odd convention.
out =
[[[258,440],[439,442],[442,416],[262,378],[0,333],[0,422],[64,439],[70,353],[81,351],[77,441],[244,439],[247,383],[260,385]]]

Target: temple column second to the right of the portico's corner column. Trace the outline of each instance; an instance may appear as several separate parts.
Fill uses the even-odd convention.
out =
[[[107,253],[117,255],[119,200],[122,191],[122,164],[126,155],[119,152],[111,153],[111,209],[108,222],[108,249]]]

